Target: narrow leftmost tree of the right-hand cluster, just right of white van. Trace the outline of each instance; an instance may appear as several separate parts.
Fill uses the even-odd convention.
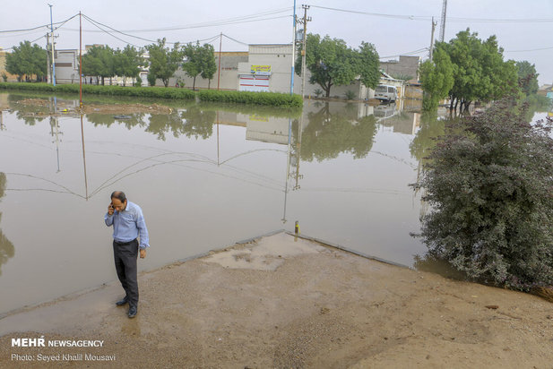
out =
[[[439,100],[454,86],[454,67],[445,50],[437,48],[432,60],[420,64],[420,81],[425,92],[422,108],[436,110]]]

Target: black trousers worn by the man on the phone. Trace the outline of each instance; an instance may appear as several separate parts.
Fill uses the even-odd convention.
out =
[[[138,241],[120,244],[113,241],[113,259],[116,262],[117,277],[125,289],[129,306],[138,305],[138,280],[136,278],[136,259],[138,258]]]

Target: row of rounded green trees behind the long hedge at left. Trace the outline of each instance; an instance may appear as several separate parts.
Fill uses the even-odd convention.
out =
[[[150,56],[143,56],[146,51]],[[139,79],[140,71],[149,67],[148,82],[153,86],[160,79],[165,87],[168,87],[169,78],[181,67],[188,76],[195,79],[201,75],[211,82],[217,71],[215,54],[212,45],[193,44],[179,45],[172,48],[166,47],[165,39],[158,39],[141,48],[127,45],[124,49],[113,49],[108,46],[91,47],[82,56],[82,74],[96,76],[97,81],[103,85],[106,78],[123,77],[126,85],[127,78]],[[30,45],[29,41],[20,43],[19,47],[13,47],[13,52],[6,56],[6,71],[18,76],[20,81],[24,77],[43,80],[48,75],[48,52],[39,45]]]

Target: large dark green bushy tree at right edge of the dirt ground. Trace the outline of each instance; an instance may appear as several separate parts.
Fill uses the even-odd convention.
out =
[[[415,188],[428,259],[471,279],[528,291],[553,284],[552,122],[505,101],[446,126]]]

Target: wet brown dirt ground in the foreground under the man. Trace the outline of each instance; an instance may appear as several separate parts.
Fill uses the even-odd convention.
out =
[[[285,233],[142,273],[139,284],[134,319],[114,305],[118,282],[4,317],[0,366],[553,367],[548,301]],[[40,337],[47,347],[12,347]],[[103,342],[48,347],[73,339]]]

